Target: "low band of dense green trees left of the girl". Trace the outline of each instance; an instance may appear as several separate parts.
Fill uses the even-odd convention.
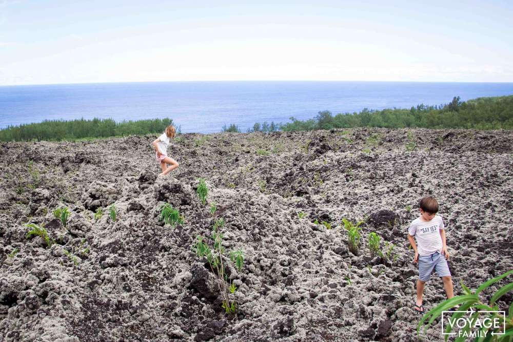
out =
[[[173,125],[173,120],[167,117],[119,123],[114,122],[113,119],[98,118],[70,121],[45,120],[42,123],[9,126],[2,129],[0,130],[0,141],[74,140],[131,134],[155,134],[162,133],[169,125]]]

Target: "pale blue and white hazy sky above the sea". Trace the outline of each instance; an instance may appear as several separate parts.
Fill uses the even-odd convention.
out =
[[[511,1],[0,0],[0,85],[513,82]]]

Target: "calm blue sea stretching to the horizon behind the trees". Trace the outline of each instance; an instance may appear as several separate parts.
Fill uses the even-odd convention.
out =
[[[0,128],[45,119],[170,117],[182,132],[286,123],[363,108],[410,108],[513,94],[513,83],[165,82],[0,87]]]

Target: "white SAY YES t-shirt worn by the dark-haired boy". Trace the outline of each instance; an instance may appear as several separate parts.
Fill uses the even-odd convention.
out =
[[[442,236],[440,230],[445,229],[442,217],[435,215],[430,221],[424,222],[421,217],[414,219],[408,228],[408,234],[415,236],[419,255],[442,253]]]

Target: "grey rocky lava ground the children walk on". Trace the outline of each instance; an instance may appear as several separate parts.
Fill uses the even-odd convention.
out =
[[[169,148],[180,168],[164,179],[154,138],[1,145],[0,341],[418,340],[406,233],[425,194],[441,204],[457,293],[460,280],[476,288],[512,268],[513,132],[183,134]],[[191,251],[215,219],[199,177],[226,221],[226,248],[245,253],[230,273],[235,316]],[[166,202],[183,225],[160,221]],[[64,206],[66,228],[52,213]],[[366,220],[357,255],[343,218]],[[56,243],[28,239],[27,223]],[[370,257],[372,231],[395,245],[391,265]],[[443,299],[433,276],[426,309]],[[443,340],[439,325],[426,340]]]

